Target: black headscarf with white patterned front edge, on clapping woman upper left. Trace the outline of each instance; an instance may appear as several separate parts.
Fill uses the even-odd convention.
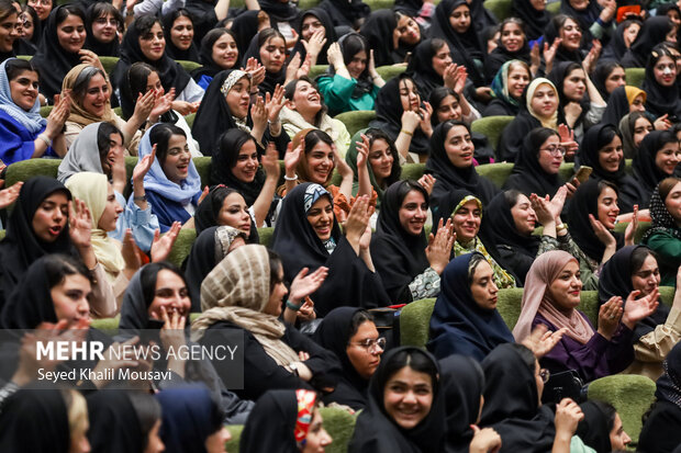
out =
[[[220,136],[225,131],[244,129],[245,123],[239,124],[242,120],[232,115],[226,95],[234,84],[245,77],[250,78],[246,71],[227,69],[217,72],[208,86],[191,127],[191,135],[199,141],[203,156],[212,156],[217,151]]]

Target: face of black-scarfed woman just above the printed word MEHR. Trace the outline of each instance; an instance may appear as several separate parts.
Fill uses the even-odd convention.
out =
[[[66,275],[49,290],[57,320],[66,320],[66,328],[76,326],[81,319],[90,319],[88,297],[92,295],[90,281],[81,274]]]

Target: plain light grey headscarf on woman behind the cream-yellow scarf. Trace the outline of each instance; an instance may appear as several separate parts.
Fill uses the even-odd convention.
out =
[[[57,180],[65,183],[74,174],[81,171],[103,173],[102,162],[97,145],[97,134],[102,123],[91,123],[83,127],[68,152],[59,163]]]

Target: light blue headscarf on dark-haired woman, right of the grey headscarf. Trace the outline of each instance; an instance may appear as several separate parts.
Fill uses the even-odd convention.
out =
[[[158,124],[149,127],[139,141],[139,147],[137,149],[139,160],[152,154],[152,140],[149,139],[149,133],[156,126],[158,126]],[[196,197],[199,192],[201,192],[201,178],[199,177],[197,167],[194,167],[193,160],[190,159],[189,174],[187,175],[187,179],[178,185],[166,177],[166,173],[164,173],[160,162],[158,161],[158,157],[156,157],[154,159],[154,163],[152,165],[152,169],[144,177],[144,188],[174,202],[187,204],[191,202],[191,200]]]

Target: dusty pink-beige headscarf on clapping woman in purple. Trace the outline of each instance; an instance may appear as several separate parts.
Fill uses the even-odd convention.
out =
[[[568,328],[567,336],[585,344],[593,337],[593,328],[587,319],[573,309],[569,315],[558,310],[547,292],[548,286],[558,279],[560,271],[570,261],[577,261],[567,251],[552,250],[542,253],[529,268],[525,288],[523,290],[523,303],[521,316],[513,329],[515,341],[522,341],[532,331],[532,321],[540,314],[556,328]]]

